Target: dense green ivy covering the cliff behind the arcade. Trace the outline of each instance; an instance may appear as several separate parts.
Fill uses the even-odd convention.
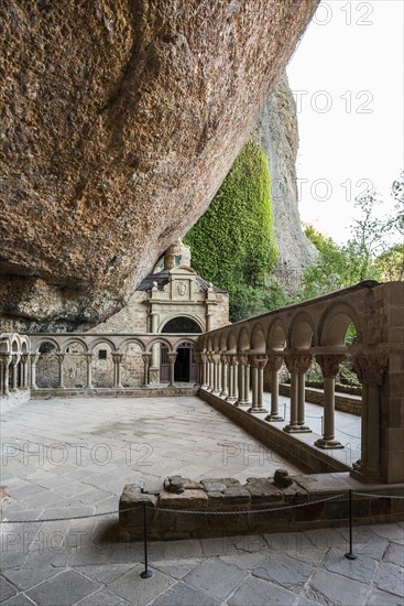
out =
[[[195,270],[229,291],[232,322],[267,310],[267,277],[277,251],[267,158],[254,141],[244,145],[184,241],[190,246]],[[281,295],[275,291],[276,299]]]

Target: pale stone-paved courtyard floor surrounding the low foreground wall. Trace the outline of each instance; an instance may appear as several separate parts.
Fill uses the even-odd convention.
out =
[[[1,604],[403,603],[403,523],[356,529],[354,561],[347,529],[154,542],[142,580],[143,547],[118,542],[117,513],[63,519],[117,511],[127,481],[298,472],[197,398],[28,402],[2,415],[1,441],[2,517],[24,520],[1,526]]]

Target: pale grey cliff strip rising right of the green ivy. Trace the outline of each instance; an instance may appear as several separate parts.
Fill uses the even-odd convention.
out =
[[[270,163],[272,212],[279,248],[275,275],[286,290],[294,290],[316,252],[301,226],[296,188],[297,116],[286,74],[282,75],[275,91],[263,106],[255,136]]]

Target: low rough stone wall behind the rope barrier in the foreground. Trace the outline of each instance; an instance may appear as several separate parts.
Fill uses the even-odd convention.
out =
[[[404,519],[402,485],[363,486],[349,474],[251,477],[199,481],[174,476],[141,487],[127,484],[119,502],[122,541],[260,534],[346,526],[349,489],[356,524]]]

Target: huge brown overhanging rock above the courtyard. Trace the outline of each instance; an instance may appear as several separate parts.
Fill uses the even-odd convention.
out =
[[[209,204],[318,0],[3,0],[0,314],[102,321]]]

